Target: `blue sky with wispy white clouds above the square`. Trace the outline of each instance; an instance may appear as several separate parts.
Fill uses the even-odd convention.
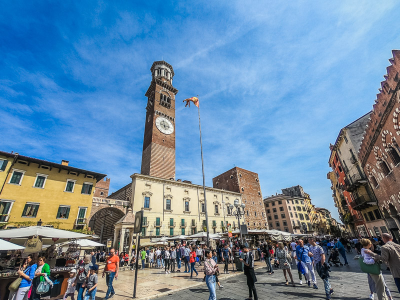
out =
[[[149,2],[149,3],[147,3]],[[215,2],[215,3],[212,3]],[[1,150],[103,172],[140,172],[149,68],[175,71],[176,178],[234,165],[263,196],[300,184],[333,206],[329,142],[372,108],[395,1],[1,1]]]

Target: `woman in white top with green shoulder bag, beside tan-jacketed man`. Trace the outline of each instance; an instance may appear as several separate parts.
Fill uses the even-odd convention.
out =
[[[366,249],[369,249],[371,247],[372,245],[371,241],[367,238],[361,238],[361,245],[362,245],[361,256],[363,257],[363,261],[366,264],[374,264],[375,260],[373,260],[371,255],[365,252]],[[371,292],[369,295],[369,299],[373,300],[373,292],[376,292],[378,300],[391,299],[391,294],[389,288],[384,282],[382,272],[380,272],[379,275],[369,274],[369,273],[367,274],[368,274],[367,276],[368,276],[369,290]]]

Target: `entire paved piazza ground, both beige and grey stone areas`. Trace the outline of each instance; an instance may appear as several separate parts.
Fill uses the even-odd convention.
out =
[[[331,267],[330,283],[335,293],[332,299],[368,299],[369,288],[366,274],[361,272],[358,262],[352,259],[354,254],[348,255],[349,266]],[[293,270],[293,278],[296,287],[284,285],[284,277],[281,270],[275,270],[275,273],[268,275],[265,272],[265,264],[256,261],[255,273],[258,282],[255,283],[258,298],[261,299],[325,299],[323,282],[317,276],[318,290],[308,287],[306,284],[298,284],[297,271]],[[159,300],[176,299],[208,299],[208,289],[205,283],[201,281],[203,277],[203,268],[196,268],[199,272],[198,277],[188,278],[186,273],[165,274],[160,269],[139,270],[137,280],[136,298],[148,299],[157,297]],[[223,265],[220,264],[220,269]],[[217,299],[243,300],[248,296],[246,278],[242,272],[232,272],[230,265],[230,274],[221,274],[219,280],[224,285],[222,290],[216,291]],[[184,267],[181,268],[184,270]],[[101,271],[100,271],[101,272]],[[96,298],[102,298],[105,295],[105,279],[101,279],[99,272],[99,285],[97,287]],[[195,274],[193,273],[193,276]],[[389,271],[383,271],[385,282],[388,285],[393,299],[400,299]],[[118,279],[114,281],[115,296],[114,299],[128,299],[133,293],[134,271],[120,272]],[[375,295],[375,299],[377,299]]]

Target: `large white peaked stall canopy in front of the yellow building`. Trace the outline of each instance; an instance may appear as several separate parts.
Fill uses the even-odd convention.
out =
[[[54,243],[54,239],[55,241],[63,242],[70,238],[91,238],[91,235],[46,226],[30,226],[0,230],[0,238],[11,238],[11,242],[16,244],[23,244],[27,237],[33,235],[40,236],[43,240],[43,244],[52,244]]]

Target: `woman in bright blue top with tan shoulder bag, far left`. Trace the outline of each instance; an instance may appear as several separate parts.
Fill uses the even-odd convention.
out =
[[[20,269],[17,274],[21,276],[22,280],[19,283],[17,291],[9,293],[9,300],[26,300],[28,297],[28,291],[30,285],[32,284],[32,279],[34,272],[36,270],[36,254],[29,254],[23,263],[22,269]]]

